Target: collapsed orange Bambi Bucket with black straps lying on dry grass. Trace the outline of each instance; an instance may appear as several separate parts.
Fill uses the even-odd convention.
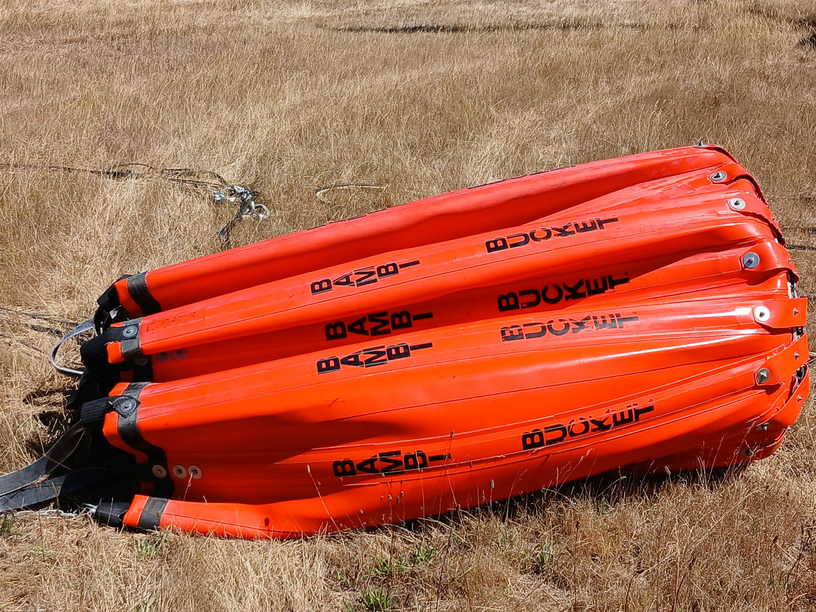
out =
[[[809,392],[784,245],[747,171],[686,147],[123,277],[51,463],[83,432],[89,458],[0,477],[0,509],[113,482],[100,521],[286,538],[761,459]]]

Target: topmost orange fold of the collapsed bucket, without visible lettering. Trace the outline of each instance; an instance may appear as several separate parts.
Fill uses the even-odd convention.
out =
[[[353,220],[288,234],[149,272],[147,284],[163,309],[193,304],[264,282],[399,249],[445,242],[529,223],[644,181],[725,167],[744,173],[723,149],[683,147],[460,189]],[[116,283],[131,318],[140,309],[127,282]]]

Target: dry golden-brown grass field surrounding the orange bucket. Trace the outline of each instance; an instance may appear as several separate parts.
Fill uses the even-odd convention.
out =
[[[0,0],[0,33],[0,164],[218,171],[274,212],[234,244],[703,140],[816,246],[813,0]],[[384,189],[315,197],[343,182]],[[233,214],[162,180],[0,170],[0,472],[64,428],[71,380],[30,324],[218,250]],[[816,251],[793,255],[816,295]],[[369,532],[0,521],[0,610],[814,609],[813,402],[739,474],[600,478]]]

